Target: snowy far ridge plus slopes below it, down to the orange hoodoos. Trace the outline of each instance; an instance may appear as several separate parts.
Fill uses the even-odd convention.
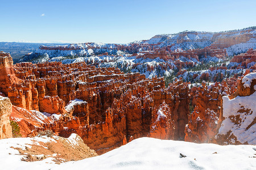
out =
[[[146,78],[155,75],[177,76],[176,70],[198,70],[198,67],[204,65],[208,65],[209,68],[213,63],[216,65],[219,62],[226,62],[228,69],[239,64],[243,69],[248,69],[255,64],[253,58],[247,57],[243,63],[237,63],[240,59],[235,58],[234,62],[228,61],[230,56],[245,53],[250,48],[255,49],[255,35],[255,27],[250,27],[216,33],[184,31],[171,35],[156,35],[150,40],[134,41],[129,44],[86,42],[40,46],[36,52],[24,56],[20,62],[85,61],[97,67],[118,67],[125,73],[139,72],[145,74]],[[237,71],[232,69],[229,74],[233,75],[234,72]]]

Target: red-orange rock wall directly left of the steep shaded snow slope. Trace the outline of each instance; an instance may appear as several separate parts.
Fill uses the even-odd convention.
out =
[[[194,111],[188,116],[185,127],[185,141],[197,143],[211,143],[216,134],[218,118],[221,112],[222,96],[230,94],[230,87],[226,82],[214,83],[206,86],[192,87],[191,106]]]

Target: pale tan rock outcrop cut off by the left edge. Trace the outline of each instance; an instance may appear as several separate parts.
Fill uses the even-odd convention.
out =
[[[11,106],[10,99],[0,96],[0,139],[13,137],[9,119]]]

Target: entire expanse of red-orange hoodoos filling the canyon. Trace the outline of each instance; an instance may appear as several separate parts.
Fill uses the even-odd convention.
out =
[[[253,53],[249,50],[244,55]],[[0,54],[1,95],[10,100],[5,117],[18,124],[20,135],[34,137],[39,131],[52,130],[68,138],[76,133],[97,154],[141,137],[223,145],[223,135],[231,133],[221,133],[216,139],[225,116],[222,98],[250,96],[255,91],[255,80],[247,92],[242,77],[238,82],[229,78],[208,86],[202,82],[198,87],[176,78],[166,86],[163,77],[148,79],[140,73],[124,74],[115,67],[85,62],[13,65],[9,53]],[[253,71],[250,68],[243,76]],[[2,138],[11,137],[3,134]],[[239,141],[227,139],[229,143]]]

